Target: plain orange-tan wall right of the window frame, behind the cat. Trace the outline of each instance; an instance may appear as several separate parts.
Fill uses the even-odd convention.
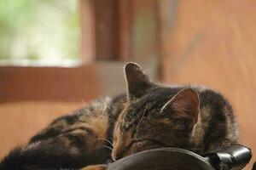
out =
[[[224,94],[236,111],[241,143],[255,155],[256,1],[179,1],[172,15],[168,7],[173,4],[164,2],[160,5],[164,79],[206,84]],[[172,26],[166,24],[170,19]]]

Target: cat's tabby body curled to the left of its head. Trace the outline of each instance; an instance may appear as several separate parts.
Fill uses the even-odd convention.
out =
[[[123,99],[125,96],[96,99],[55,119],[28,144],[12,150],[0,169],[78,169],[105,163],[111,157],[107,147],[112,147],[105,139],[112,136],[113,120],[123,108]]]

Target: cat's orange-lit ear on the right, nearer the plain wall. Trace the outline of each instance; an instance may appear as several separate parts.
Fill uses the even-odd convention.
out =
[[[197,92],[191,88],[183,89],[178,92],[166,105],[161,112],[171,113],[172,117],[183,120],[189,127],[194,127],[198,119],[200,110],[200,99]]]

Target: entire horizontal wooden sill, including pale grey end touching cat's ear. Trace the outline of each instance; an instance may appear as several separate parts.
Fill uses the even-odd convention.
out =
[[[90,101],[125,93],[124,63],[96,62],[74,68],[0,67],[0,103]]]

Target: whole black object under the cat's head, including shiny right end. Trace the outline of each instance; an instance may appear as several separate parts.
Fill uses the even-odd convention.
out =
[[[199,156],[189,150],[160,148],[145,150],[108,164],[108,170],[238,170],[252,157],[240,144]]]

